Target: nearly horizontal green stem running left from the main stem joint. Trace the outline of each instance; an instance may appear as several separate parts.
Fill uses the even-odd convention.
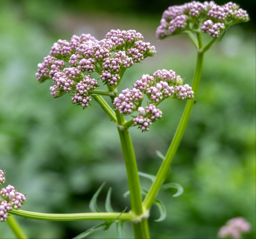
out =
[[[71,214],[49,214],[49,213],[37,213],[23,210],[11,210],[10,214],[16,216],[22,216],[29,219],[44,220],[44,221],[85,221],[85,220],[113,220],[121,213],[71,213]],[[10,217],[12,218],[12,216]],[[8,219],[8,221],[10,220]],[[132,221],[134,215],[131,213],[122,213],[118,218],[121,221]]]

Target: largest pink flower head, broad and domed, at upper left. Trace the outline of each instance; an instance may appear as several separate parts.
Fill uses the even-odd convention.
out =
[[[111,30],[100,41],[90,34],[73,35],[70,41],[53,44],[49,56],[38,64],[36,76],[39,82],[53,80],[50,93],[54,98],[73,92],[73,103],[86,108],[98,81],[83,73],[96,71],[105,84],[116,87],[126,68],[155,54],[155,47],[135,30]],[[65,68],[65,62],[69,67]]]

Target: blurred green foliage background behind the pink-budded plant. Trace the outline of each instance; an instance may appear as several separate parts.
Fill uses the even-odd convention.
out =
[[[242,1],[241,1],[242,2]],[[162,11],[183,1],[0,1],[0,169],[7,183],[20,187],[28,203],[24,210],[45,213],[89,212],[88,203],[102,182],[107,186],[98,199],[104,208],[108,187],[112,205],[122,211],[129,199],[121,145],[115,125],[97,102],[86,110],[65,95],[52,99],[50,80],[39,84],[37,64],[59,38],[91,33],[104,38],[111,29],[135,29],[158,55],[129,68],[120,88],[157,69],[172,69],[191,84],[196,52],[185,35],[155,38]],[[217,1],[222,4],[222,1]],[[166,182],[183,185],[159,193],[168,216],[157,223],[152,207],[152,238],[213,239],[219,228],[244,216],[255,238],[255,1],[242,2],[252,21],[232,26],[205,54],[197,102]],[[204,40],[208,40],[204,36]],[[156,174],[181,118],[185,102],[165,101],[163,120],[150,131],[131,129],[139,171]],[[150,182],[141,179],[144,187]],[[46,222],[18,218],[30,238],[72,238],[97,221]],[[127,238],[132,238],[129,224]],[[0,223],[0,238],[15,238]],[[89,238],[117,238],[115,227]]]

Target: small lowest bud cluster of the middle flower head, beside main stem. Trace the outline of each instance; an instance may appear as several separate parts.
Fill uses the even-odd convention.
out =
[[[138,112],[140,114],[134,117],[133,121],[134,125],[138,125],[142,132],[148,131],[149,125],[162,117],[162,111],[157,109],[154,104],[147,105],[145,109],[143,107],[139,107]]]

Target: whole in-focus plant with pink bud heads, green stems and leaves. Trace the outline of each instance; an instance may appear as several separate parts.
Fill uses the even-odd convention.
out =
[[[168,175],[170,164],[183,137],[195,103],[204,53],[218,39],[222,38],[230,25],[248,20],[247,12],[232,2],[219,6],[213,1],[204,3],[192,1],[180,6],[171,6],[164,11],[157,28],[157,38],[163,39],[170,35],[187,34],[197,49],[192,87],[183,84],[184,78],[173,70],[162,69],[142,75],[139,80],[134,82],[131,89],[124,89],[118,94],[119,84],[126,69],[142,62],[146,57],[154,57],[156,54],[155,47],[146,43],[144,37],[135,30],[111,30],[102,40],[97,40],[90,34],[73,35],[70,41],[59,40],[54,43],[49,56],[38,64],[37,80],[44,82],[52,79],[53,85],[50,87],[50,94],[53,98],[68,94],[71,102],[83,109],[98,102],[116,125],[129,184],[129,191],[125,193],[125,196],[130,195],[131,211],[113,211],[110,203],[110,189],[105,206],[107,212],[100,212],[97,206],[97,197],[104,184],[90,202],[91,213],[44,214],[18,210],[25,203],[25,196],[18,193],[11,185],[2,188],[5,182],[5,173],[0,170],[0,221],[7,220],[18,238],[26,238],[26,236],[10,214],[50,221],[105,221],[76,238],[85,238],[98,229],[106,230],[113,223],[117,225],[119,238],[124,238],[122,229],[124,222],[132,223],[136,239],[150,238],[147,219],[151,206],[156,204],[160,210],[161,216],[157,221],[163,220],[166,216],[164,205],[156,199],[158,192],[171,187],[178,190],[174,196],[183,192],[181,185],[174,182],[163,184],[163,182]],[[201,38],[202,33],[207,33],[211,37],[205,45]],[[98,73],[98,79],[92,77],[92,72]],[[100,84],[106,85],[108,90],[100,90]],[[109,105],[103,96],[110,97],[112,105]],[[95,102],[92,102],[92,99]],[[156,176],[138,172],[129,128],[136,126],[142,132],[148,131],[150,127],[153,127],[152,123],[163,115],[160,103],[170,99],[188,100],[170,148],[165,156],[157,152],[158,157],[162,159],[162,165]],[[132,119],[125,120],[127,115],[132,115]],[[140,186],[139,176],[152,181],[149,190]],[[142,194],[146,195],[144,200],[142,200]],[[227,234],[226,231],[223,231],[224,229],[220,232],[221,237]]]

